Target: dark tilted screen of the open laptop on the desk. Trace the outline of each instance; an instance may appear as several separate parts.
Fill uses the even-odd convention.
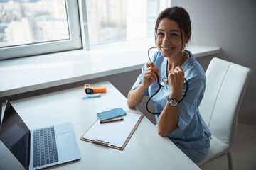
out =
[[[21,164],[28,169],[30,130],[21,117],[6,101],[4,118],[1,123],[0,139]]]

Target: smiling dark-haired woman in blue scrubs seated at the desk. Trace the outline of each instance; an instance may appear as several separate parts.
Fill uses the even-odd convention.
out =
[[[167,136],[193,162],[200,162],[210,147],[210,130],[198,111],[206,88],[206,76],[191,52],[183,50],[191,38],[191,21],[181,7],[162,11],[155,27],[156,52],[142,67],[142,74],[132,86],[127,105],[134,108],[143,96],[152,96],[159,88],[157,76],[168,77],[169,86],[151,98],[156,107],[158,133]],[[188,91],[185,94],[186,83]],[[179,103],[180,102],[180,103]]]

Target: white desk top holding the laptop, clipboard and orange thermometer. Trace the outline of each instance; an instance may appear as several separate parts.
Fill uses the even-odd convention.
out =
[[[107,93],[100,98],[82,100],[85,91],[80,87],[11,101],[30,129],[73,123],[81,159],[49,169],[199,169],[167,137],[159,136],[145,116],[123,151],[80,140],[100,111],[122,107],[139,113],[127,107],[127,98],[109,81],[93,86],[107,86]],[[0,144],[0,169],[23,169],[3,143]]]

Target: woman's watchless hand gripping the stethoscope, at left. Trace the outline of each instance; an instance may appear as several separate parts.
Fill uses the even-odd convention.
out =
[[[153,62],[146,63],[146,70],[142,78],[142,86],[148,88],[154,81],[157,81],[156,74],[160,74],[159,70]]]

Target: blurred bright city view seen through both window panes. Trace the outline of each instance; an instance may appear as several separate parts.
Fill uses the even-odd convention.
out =
[[[90,45],[154,36],[159,0],[86,0],[86,6]],[[0,47],[70,38],[65,0],[0,0]]]

